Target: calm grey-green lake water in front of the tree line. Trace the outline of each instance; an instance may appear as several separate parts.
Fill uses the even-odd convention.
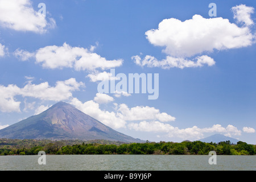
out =
[[[208,155],[46,155],[39,165],[37,155],[0,156],[0,170],[85,171],[194,171],[256,170],[256,156],[217,155],[210,165]]]

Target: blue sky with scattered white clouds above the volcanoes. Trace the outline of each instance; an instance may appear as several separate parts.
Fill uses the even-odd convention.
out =
[[[1,128],[65,101],[135,138],[221,133],[256,144],[254,1],[7,2],[0,0]],[[110,68],[158,73],[158,99],[99,94],[97,76]]]

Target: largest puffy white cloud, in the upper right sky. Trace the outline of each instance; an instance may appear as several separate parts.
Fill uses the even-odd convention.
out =
[[[203,18],[201,15],[194,15],[184,22],[164,19],[158,29],[148,30],[145,34],[151,44],[166,47],[164,52],[175,57],[247,47],[254,39],[249,27],[238,27],[221,17]]]

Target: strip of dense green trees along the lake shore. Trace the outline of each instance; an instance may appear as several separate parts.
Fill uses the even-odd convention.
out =
[[[18,140],[0,139],[0,155],[37,155],[39,151],[46,154],[172,154],[172,155],[208,155],[216,151],[217,155],[255,155],[256,146],[245,142],[230,144],[205,143],[200,141],[181,143],[146,142],[122,143],[106,140]]]

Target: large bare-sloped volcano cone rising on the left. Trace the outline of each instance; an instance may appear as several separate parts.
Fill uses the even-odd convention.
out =
[[[58,102],[43,113],[0,130],[0,138],[142,142],[111,129],[65,102]]]

